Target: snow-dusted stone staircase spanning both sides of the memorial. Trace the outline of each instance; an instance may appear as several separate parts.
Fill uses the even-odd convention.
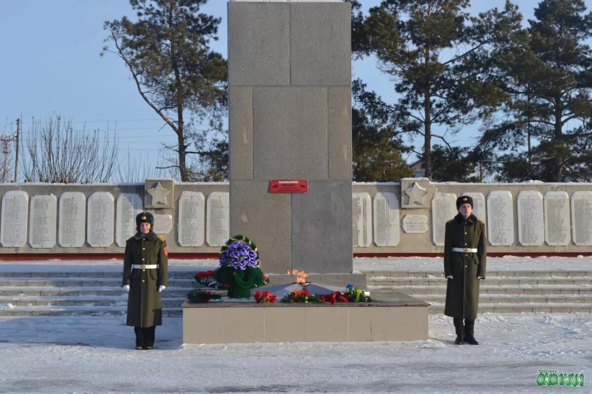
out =
[[[181,304],[198,285],[195,271],[169,271],[163,316],[181,317]],[[446,279],[439,271],[366,271],[374,298],[403,292],[444,311]],[[275,275],[270,275],[272,283]],[[278,277],[279,279],[279,277]],[[120,272],[0,272],[0,317],[124,315],[127,293]],[[208,289],[208,288],[205,288]],[[224,294],[223,290],[208,289]],[[481,283],[480,312],[592,312],[591,271],[488,272]]]

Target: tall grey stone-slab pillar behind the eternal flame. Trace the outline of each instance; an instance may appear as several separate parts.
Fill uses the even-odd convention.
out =
[[[265,272],[352,272],[350,4],[228,4],[230,232]],[[303,179],[307,193],[270,193]]]

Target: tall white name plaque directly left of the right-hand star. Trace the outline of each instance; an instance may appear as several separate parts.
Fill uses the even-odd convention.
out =
[[[378,192],[374,195],[373,200],[374,243],[377,246],[397,246],[401,240],[397,195]]]

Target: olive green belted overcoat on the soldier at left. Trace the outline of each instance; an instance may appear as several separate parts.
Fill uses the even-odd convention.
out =
[[[168,249],[165,238],[150,231],[126,242],[123,259],[123,283],[130,285],[127,299],[127,325],[162,325],[162,298],[158,288],[168,281]],[[157,269],[133,269],[132,264],[157,264]]]

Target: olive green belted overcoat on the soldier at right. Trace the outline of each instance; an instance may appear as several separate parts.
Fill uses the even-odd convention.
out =
[[[476,248],[477,253],[452,251],[452,248]],[[485,279],[487,237],[485,223],[461,214],[446,222],[444,241],[444,276],[451,276],[446,286],[444,314],[453,318],[475,319],[479,307],[478,276]]]

